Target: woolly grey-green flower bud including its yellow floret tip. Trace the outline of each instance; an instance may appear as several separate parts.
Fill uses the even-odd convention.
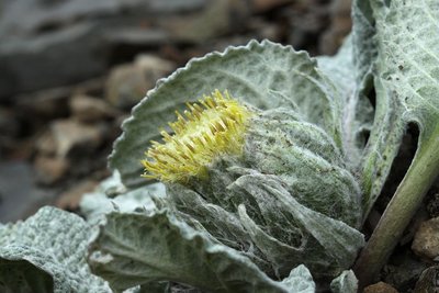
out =
[[[188,109],[143,161],[144,177],[167,183],[176,212],[269,275],[300,263],[339,273],[346,264],[322,261],[328,251],[299,215],[359,225],[360,189],[331,137],[293,110],[257,110],[217,90]]]

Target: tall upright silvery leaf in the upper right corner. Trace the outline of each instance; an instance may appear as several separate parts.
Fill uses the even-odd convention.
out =
[[[435,129],[439,8],[435,0],[357,0],[352,15],[351,37],[337,56],[319,57],[319,66],[345,95],[344,145],[348,162],[353,161],[360,174],[365,216],[387,178],[407,124],[419,125],[419,149],[439,132]],[[376,105],[371,126],[365,95],[372,81]],[[351,143],[361,143],[357,135],[369,129],[365,149],[356,148]]]

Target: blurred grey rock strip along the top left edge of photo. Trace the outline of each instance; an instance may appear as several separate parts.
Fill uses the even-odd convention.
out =
[[[123,13],[153,16],[196,11],[206,2],[207,0],[14,0],[4,4],[0,19],[0,36],[14,38],[57,30],[78,20],[112,19]]]

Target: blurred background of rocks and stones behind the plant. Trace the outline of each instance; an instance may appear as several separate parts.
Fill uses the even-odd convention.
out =
[[[268,38],[331,55],[350,0],[0,0],[0,222],[77,211],[131,108],[192,57]]]

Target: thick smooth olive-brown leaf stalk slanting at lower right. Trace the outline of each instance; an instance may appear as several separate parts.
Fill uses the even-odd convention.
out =
[[[353,267],[360,288],[375,281],[424,195],[439,176],[439,124],[435,131],[424,132],[419,139],[419,148],[407,173]]]

